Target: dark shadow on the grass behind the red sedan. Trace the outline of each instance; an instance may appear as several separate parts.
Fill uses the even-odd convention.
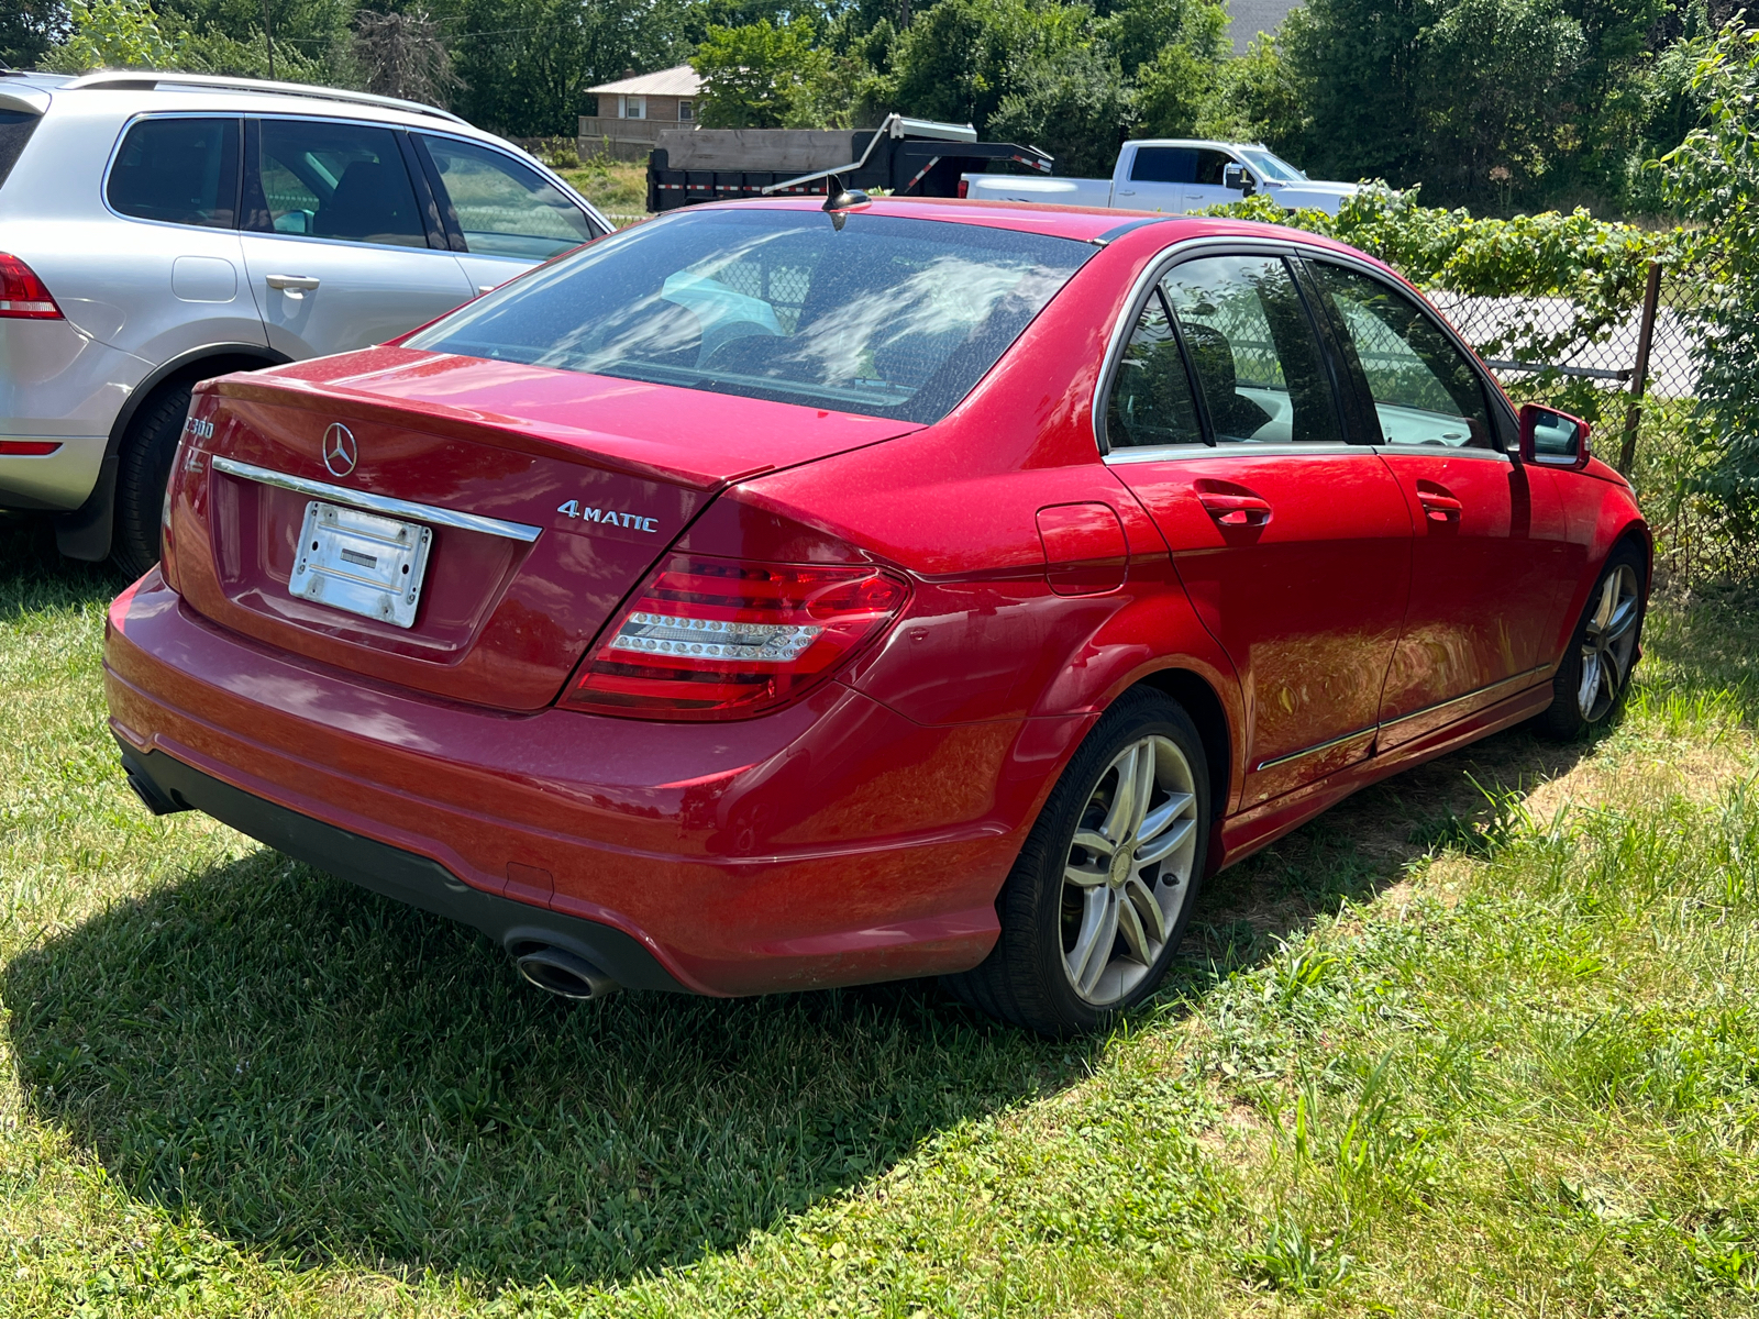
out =
[[[568,1004],[260,849],[0,980],[26,1103],[130,1194],[281,1257],[614,1282],[744,1242],[1099,1045],[932,985]]]

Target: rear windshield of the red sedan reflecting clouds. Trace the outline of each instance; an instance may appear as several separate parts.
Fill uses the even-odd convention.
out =
[[[602,239],[410,348],[932,422],[1094,248],[823,211],[679,211]]]

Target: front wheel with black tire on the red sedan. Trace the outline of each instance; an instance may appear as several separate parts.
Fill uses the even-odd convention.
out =
[[[1608,589],[1608,584],[1618,582]],[[1611,626],[1601,624],[1601,612],[1611,596]],[[1629,603],[1629,612],[1625,612]],[[1631,670],[1641,656],[1643,616],[1648,610],[1648,563],[1631,543],[1606,556],[1606,566],[1594,579],[1581,619],[1569,635],[1564,661],[1551,679],[1551,705],[1534,719],[1534,728],[1560,742],[1573,742],[1590,730],[1611,723],[1631,691]],[[1592,670],[1592,672],[1590,672]],[[1585,677],[1595,681],[1585,682]],[[1585,689],[1592,686],[1592,695]]]

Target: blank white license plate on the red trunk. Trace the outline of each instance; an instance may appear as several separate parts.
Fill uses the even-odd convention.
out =
[[[433,528],[313,499],[287,589],[331,608],[408,628],[422,598]]]

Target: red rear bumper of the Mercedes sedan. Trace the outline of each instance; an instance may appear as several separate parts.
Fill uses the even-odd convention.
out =
[[[843,686],[730,725],[501,714],[225,633],[157,572],[111,607],[106,688],[125,754],[243,832],[494,937],[508,907],[607,927],[702,994],[980,962],[1089,723],[925,728]],[[588,960],[660,983],[580,927]]]

